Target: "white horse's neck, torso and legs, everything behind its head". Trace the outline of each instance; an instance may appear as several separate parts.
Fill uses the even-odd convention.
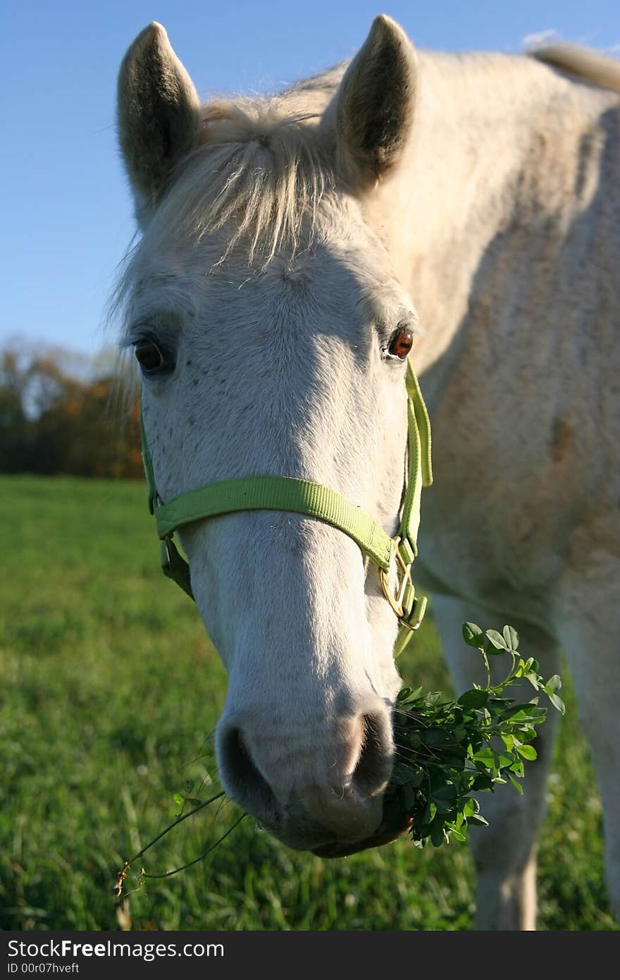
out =
[[[413,231],[407,286],[427,331],[416,357],[435,479],[415,571],[435,593],[458,689],[472,679],[458,642],[466,619],[490,621],[492,612],[513,623],[548,673],[558,669],[558,646],[566,652],[618,903],[617,97],[530,60],[508,71],[502,64],[467,59],[451,72],[441,59],[437,77],[429,72],[441,92],[436,105],[467,92],[478,110],[473,132],[467,120],[464,132],[462,123],[446,131],[431,109],[424,145],[421,100],[411,185],[419,181],[424,203],[411,226],[422,231],[419,243]],[[524,797],[490,801],[490,832],[474,841],[483,928],[534,926],[553,723],[537,740]]]

